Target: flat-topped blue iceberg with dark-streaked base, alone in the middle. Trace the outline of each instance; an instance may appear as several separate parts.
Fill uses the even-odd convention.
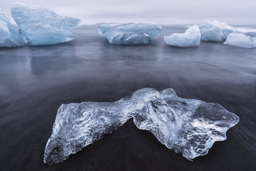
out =
[[[111,44],[144,44],[162,33],[155,23],[97,23],[99,33]]]

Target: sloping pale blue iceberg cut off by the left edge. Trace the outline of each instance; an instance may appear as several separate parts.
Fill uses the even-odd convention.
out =
[[[0,48],[19,47],[24,45],[24,40],[19,34],[18,29],[12,25],[0,8]]]

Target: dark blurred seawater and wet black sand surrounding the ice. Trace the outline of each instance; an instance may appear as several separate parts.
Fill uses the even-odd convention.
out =
[[[71,42],[0,48],[0,170],[254,170],[256,48],[205,41],[177,48],[163,41],[185,26],[163,26],[142,45],[109,44],[91,25],[73,29]],[[193,162],[129,119],[62,163],[43,163],[61,104],[113,102],[142,88],[173,88],[178,97],[218,103],[240,122]]]

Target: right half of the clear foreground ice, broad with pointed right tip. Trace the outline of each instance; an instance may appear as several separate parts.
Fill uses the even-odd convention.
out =
[[[187,159],[207,154],[214,142],[225,140],[227,129],[239,121],[219,104],[179,98],[173,89],[169,92],[164,90],[141,104],[133,115],[134,123]]]

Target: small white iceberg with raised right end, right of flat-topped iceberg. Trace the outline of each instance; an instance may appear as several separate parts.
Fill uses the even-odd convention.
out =
[[[201,33],[198,26],[189,27],[185,33],[174,33],[171,36],[164,36],[164,41],[172,46],[189,48],[200,45]]]

